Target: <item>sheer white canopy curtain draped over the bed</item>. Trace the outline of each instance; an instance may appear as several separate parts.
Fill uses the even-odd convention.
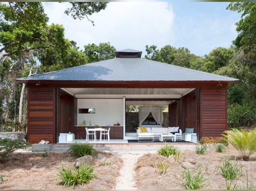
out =
[[[148,106],[148,107],[140,107],[139,109],[139,127],[141,127],[141,123],[148,117],[148,115],[152,113],[155,121],[160,124],[160,127],[162,127],[163,122],[163,114],[162,114],[162,108],[159,106]]]

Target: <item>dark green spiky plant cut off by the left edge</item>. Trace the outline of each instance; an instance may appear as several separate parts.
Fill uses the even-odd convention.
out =
[[[24,140],[0,139],[0,163],[3,163],[15,150],[25,148],[28,145]]]

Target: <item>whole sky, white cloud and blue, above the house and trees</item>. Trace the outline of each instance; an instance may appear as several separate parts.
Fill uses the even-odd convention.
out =
[[[146,54],[145,46],[186,47],[204,56],[217,47],[229,48],[237,36],[235,23],[241,14],[226,10],[229,2],[110,2],[105,10],[87,18],[74,20],[64,10],[68,2],[42,2],[49,25],[61,24],[65,38],[74,40],[79,50],[84,45],[110,43],[117,51],[134,49]]]

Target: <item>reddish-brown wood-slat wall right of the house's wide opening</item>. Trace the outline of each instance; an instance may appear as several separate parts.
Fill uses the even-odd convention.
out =
[[[201,129],[203,136],[219,137],[227,130],[227,89],[201,89]]]

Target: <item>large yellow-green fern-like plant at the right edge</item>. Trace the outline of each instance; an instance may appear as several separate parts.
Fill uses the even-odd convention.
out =
[[[225,131],[222,136],[223,140],[236,148],[245,161],[249,161],[249,157],[256,152],[256,128],[251,131],[232,129]]]

